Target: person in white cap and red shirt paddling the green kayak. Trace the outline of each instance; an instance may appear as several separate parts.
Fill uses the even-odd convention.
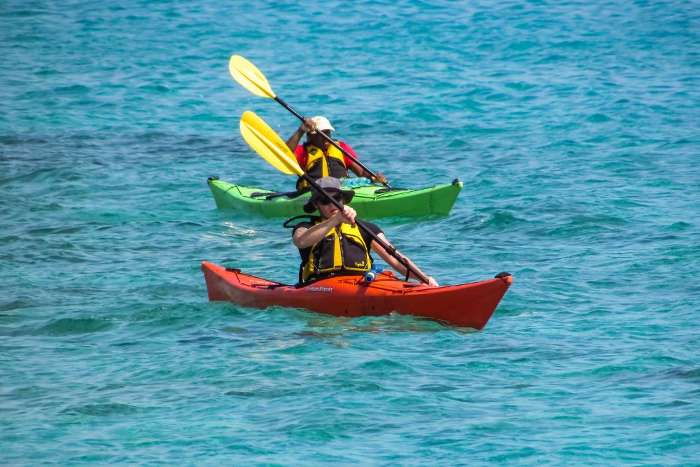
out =
[[[335,128],[330,125],[328,118],[323,116],[307,118],[286,141],[287,147],[294,153],[299,166],[304,169],[304,172],[313,179],[321,179],[324,176],[334,176],[337,179],[343,179],[348,176],[348,170],[350,170],[353,174],[365,177],[373,182],[386,183],[386,177],[381,172],[378,172],[377,176],[372,176],[370,172],[360,167],[357,162],[344,155],[338,148],[331,146],[328,139],[318,134],[318,132],[323,132],[330,137],[330,132],[332,131],[335,131]],[[304,134],[307,135],[307,141],[304,144],[299,144]],[[357,158],[355,151],[349,144],[343,141],[336,142],[344,151]],[[308,188],[309,184],[304,179],[297,181],[297,190],[307,190]]]

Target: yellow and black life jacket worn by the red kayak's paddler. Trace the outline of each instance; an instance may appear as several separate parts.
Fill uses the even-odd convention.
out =
[[[316,221],[314,224],[321,223]],[[309,260],[302,265],[301,279],[329,272],[365,272],[372,268],[372,258],[360,229],[342,223],[325,234],[325,237],[311,246]]]

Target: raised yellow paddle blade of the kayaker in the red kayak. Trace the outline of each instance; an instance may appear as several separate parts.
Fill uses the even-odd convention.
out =
[[[256,153],[280,172],[298,176],[304,174],[286,143],[255,113],[246,111],[241,116],[241,134]]]

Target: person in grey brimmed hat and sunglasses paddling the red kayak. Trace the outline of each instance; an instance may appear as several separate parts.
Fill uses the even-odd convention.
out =
[[[311,197],[304,204],[304,211],[311,214],[318,209],[321,216],[311,216],[310,221],[297,223],[293,226],[292,233],[294,245],[302,257],[300,283],[338,273],[363,274],[372,268],[370,250],[374,250],[396,272],[405,276],[406,267],[355,225],[356,212],[345,205],[355,193],[342,190],[340,181],[334,177],[323,177],[317,183],[344,206],[339,211],[320,192],[311,188]],[[377,225],[369,222],[364,224],[388,246],[393,247]],[[423,274],[411,260],[405,259],[417,272]],[[428,279],[429,285],[437,286],[433,277],[423,275]],[[418,279],[414,274],[410,278]]]

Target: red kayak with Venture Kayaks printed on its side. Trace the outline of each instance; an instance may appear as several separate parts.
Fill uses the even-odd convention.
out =
[[[202,272],[211,301],[261,309],[304,308],[349,317],[396,312],[476,329],[486,326],[513,281],[502,272],[488,281],[434,287],[401,281],[385,271],[369,283],[363,276],[336,276],[297,288],[206,262]]]

